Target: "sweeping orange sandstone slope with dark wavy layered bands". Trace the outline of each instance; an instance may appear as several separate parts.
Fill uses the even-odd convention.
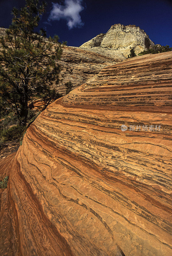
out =
[[[38,116],[0,162],[1,256],[172,255],[171,67],[123,61]]]

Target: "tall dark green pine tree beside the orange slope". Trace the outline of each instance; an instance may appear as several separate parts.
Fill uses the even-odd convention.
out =
[[[61,96],[51,87],[59,81],[60,65],[56,61],[64,44],[56,35],[46,38],[44,29],[35,32],[46,5],[26,0],[20,10],[14,7],[12,23],[0,38],[0,94],[15,109],[20,126],[27,123],[28,101],[34,96],[46,105]]]

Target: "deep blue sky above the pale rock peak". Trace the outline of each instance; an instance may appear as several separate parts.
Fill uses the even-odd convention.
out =
[[[60,41],[68,41],[69,46],[80,46],[94,36],[106,33],[111,25],[117,23],[139,26],[155,44],[172,46],[172,1],[47,0],[46,2],[48,6],[39,27],[46,27],[47,36],[56,34],[60,37]],[[69,4],[70,6],[66,8]],[[8,28],[11,24],[13,6],[20,9],[24,5],[25,0],[0,0],[0,27]],[[78,8],[78,13],[75,6]],[[59,20],[54,20],[52,10],[56,10],[55,16]]]

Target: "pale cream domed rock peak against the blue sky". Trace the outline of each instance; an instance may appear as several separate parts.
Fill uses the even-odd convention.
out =
[[[125,59],[134,48],[136,55],[139,52],[149,49],[154,43],[143,29],[135,25],[124,26],[121,24],[112,25],[107,33],[99,34],[82,44],[80,48],[91,48],[92,51],[106,54],[112,58]]]

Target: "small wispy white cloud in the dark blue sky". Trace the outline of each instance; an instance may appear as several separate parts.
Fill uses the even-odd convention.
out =
[[[64,5],[57,3],[52,5],[48,21],[65,19],[69,29],[84,25],[79,14],[84,9],[82,0],[65,0]]]

